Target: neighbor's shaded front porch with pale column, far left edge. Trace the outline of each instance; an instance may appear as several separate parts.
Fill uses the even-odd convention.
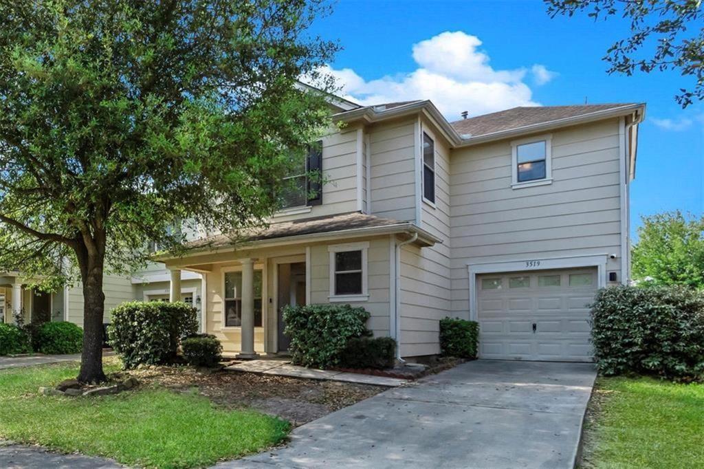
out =
[[[33,320],[62,320],[63,291],[44,293],[30,289],[30,279],[20,272],[0,273],[0,318],[2,322],[16,323],[21,315],[25,323]]]

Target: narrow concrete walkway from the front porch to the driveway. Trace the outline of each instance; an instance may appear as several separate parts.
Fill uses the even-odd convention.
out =
[[[316,370],[305,366],[291,365],[290,361],[278,359],[243,360],[226,366],[225,370],[257,373],[258,375],[277,375],[301,377],[313,380],[331,380],[356,382],[358,384],[376,384],[377,386],[396,387],[407,384],[409,380],[398,378],[361,375],[360,373],[344,373],[335,370]]]

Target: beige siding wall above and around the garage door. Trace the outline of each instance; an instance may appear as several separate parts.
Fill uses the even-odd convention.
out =
[[[509,141],[453,151],[452,309],[468,315],[467,264],[619,254],[618,120],[553,132],[553,183],[511,188]],[[608,272],[622,278],[620,260]]]

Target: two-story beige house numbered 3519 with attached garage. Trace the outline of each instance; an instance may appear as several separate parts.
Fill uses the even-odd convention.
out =
[[[344,126],[310,152],[326,180],[314,199],[292,172],[301,192],[267,230],[197,239],[158,258],[168,282],[147,273],[135,291],[196,294],[203,330],[244,357],[287,351],[282,306],[352,304],[404,358],[438,354],[453,316],[479,321],[484,358],[591,360],[586,304],[629,280],[643,104],[454,123],[430,101],[333,104]]]

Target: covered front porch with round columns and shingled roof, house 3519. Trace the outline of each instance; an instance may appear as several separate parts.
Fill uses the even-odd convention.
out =
[[[344,303],[370,312],[377,337],[398,337],[396,248],[435,240],[415,225],[351,213],[270,225],[242,241],[225,235],[189,244],[180,258],[156,256],[170,270],[170,301],[184,272],[203,277],[203,332],[225,356],[286,354],[284,306]]]

